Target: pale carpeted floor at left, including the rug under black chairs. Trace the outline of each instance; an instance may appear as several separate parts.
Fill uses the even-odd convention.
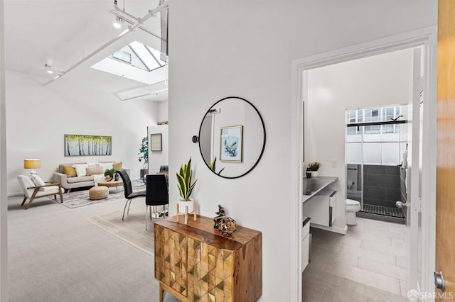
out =
[[[144,198],[124,221],[124,198],[77,208],[38,198],[28,210],[22,199],[8,198],[9,302],[159,301]],[[164,301],[178,302],[169,293]]]

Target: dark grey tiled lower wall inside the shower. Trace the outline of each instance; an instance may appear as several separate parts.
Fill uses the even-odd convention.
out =
[[[363,165],[363,203],[392,208],[397,201],[405,203],[401,171],[396,165]]]

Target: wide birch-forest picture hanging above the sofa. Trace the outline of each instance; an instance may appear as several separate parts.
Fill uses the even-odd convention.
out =
[[[112,136],[64,135],[65,156],[112,155]]]

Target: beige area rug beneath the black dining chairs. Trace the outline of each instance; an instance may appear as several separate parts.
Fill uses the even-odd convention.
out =
[[[85,218],[98,228],[136,247],[141,252],[151,257],[154,256],[154,220],[147,218],[147,230],[145,230],[146,206],[134,206],[125,213],[122,220],[123,210],[105,213],[98,216]]]

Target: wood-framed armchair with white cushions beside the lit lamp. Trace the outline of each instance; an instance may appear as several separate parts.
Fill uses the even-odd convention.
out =
[[[23,206],[27,198],[30,199],[26,205],[26,210],[30,208],[31,203],[36,198],[45,196],[53,195],[54,199],[56,200],[58,194],[60,195],[60,203],[63,203],[62,186],[60,185],[60,183],[52,183],[48,181],[43,186],[36,186],[30,179],[30,177],[26,175],[18,175],[17,179],[23,191],[23,201],[21,203],[21,206]]]

